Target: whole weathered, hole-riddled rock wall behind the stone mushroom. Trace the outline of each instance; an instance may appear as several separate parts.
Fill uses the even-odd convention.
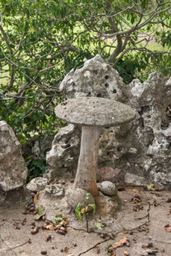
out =
[[[171,189],[171,78],[158,72],[145,83],[125,85],[119,73],[96,55],[81,69],[71,70],[60,84],[67,99],[98,96],[123,102],[137,111],[126,126],[102,128],[99,146],[98,182],[144,186],[154,183]],[[166,112],[166,109],[168,110]],[[171,108],[170,108],[171,109]],[[105,114],[105,113],[104,113]],[[81,131],[62,128],[47,154],[49,177],[75,176]]]

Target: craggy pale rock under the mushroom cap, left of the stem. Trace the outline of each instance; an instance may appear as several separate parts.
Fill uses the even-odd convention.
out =
[[[68,125],[61,129],[52,143],[51,151],[47,152],[47,163],[51,169],[45,176],[50,180],[54,177],[72,178],[75,176],[80,151],[81,128]]]

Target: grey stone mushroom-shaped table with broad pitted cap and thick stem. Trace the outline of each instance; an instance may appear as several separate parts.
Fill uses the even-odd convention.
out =
[[[64,122],[82,126],[81,149],[73,187],[98,196],[96,169],[101,127],[131,122],[135,111],[128,105],[105,98],[69,99],[55,107],[55,114]]]

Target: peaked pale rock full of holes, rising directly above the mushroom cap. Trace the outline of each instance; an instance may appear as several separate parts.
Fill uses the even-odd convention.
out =
[[[119,100],[123,96],[123,86],[119,73],[98,54],[85,61],[80,69],[70,70],[60,90],[67,99],[88,96]]]

